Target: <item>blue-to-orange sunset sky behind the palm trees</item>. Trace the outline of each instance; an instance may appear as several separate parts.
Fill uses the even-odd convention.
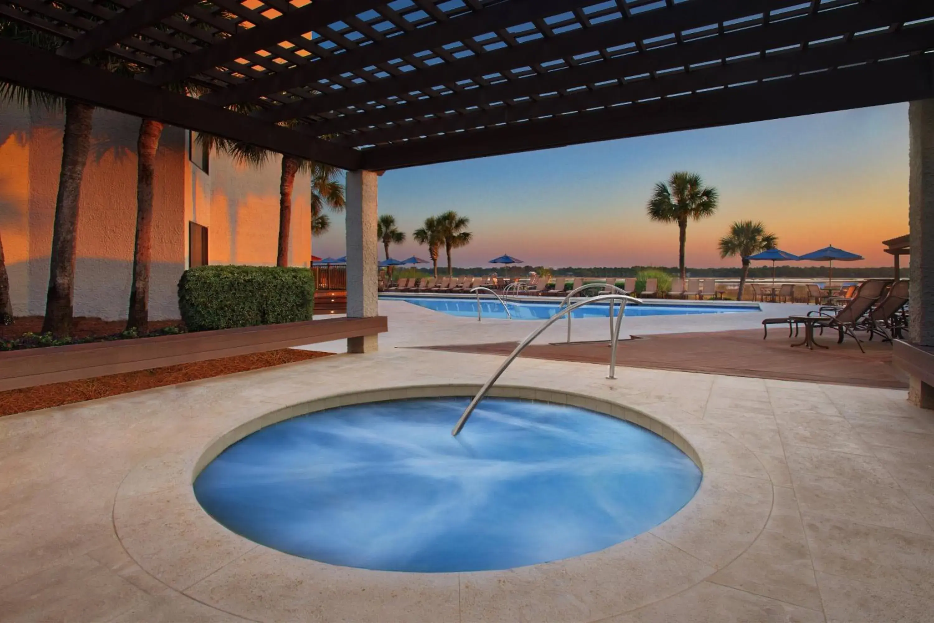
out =
[[[853,266],[889,265],[880,242],[908,233],[908,105],[389,171],[379,210],[407,235],[391,248],[398,259],[427,258],[412,231],[453,209],[474,233],[455,251],[458,266],[502,253],[553,267],[673,266],[677,226],[651,222],[645,203],[674,170],[720,191],[715,216],[687,227],[688,266],[738,265],[716,250],[737,219],[762,220],[792,253],[832,244],[866,258]],[[316,255],[344,254],[343,220],[315,239]]]

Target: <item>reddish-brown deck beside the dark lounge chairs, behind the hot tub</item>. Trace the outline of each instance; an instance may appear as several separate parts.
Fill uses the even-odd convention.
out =
[[[803,332],[802,332],[803,336]],[[792,348],[802,338],[787,337],[772,329],[769,339],[762,332],[670,333],[648,335],[619,343],[617,363],[636,368],[679,370],[715,375],[753,376],[789,381],[809,381],[905,389],[907,376],[892,365],[892,345],[878,340],[863,342],[866,353],[847,338],[838,345],[836,333],[817,336],[829,350]],[[508,355],[516,342],[467,346],[430,347],[433,350]],[[556,361],[608,363],[607,342],[533,344],[524,357]]]

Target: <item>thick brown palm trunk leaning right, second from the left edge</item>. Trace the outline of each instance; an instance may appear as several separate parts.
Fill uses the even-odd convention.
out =
[[[55,198],[55,223],[49,258],[49,292],[42,332],[71,333],[74,313],[75,258],[78,252],[78,201],[81,177],[91,149],[94,107],[67,100],[64,105],[62,170]]]

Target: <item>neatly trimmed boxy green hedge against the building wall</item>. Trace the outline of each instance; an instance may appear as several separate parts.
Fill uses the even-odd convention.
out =
[[[310,320],[315,280],[307,268],[196,266],[178,281],[189,331]]]

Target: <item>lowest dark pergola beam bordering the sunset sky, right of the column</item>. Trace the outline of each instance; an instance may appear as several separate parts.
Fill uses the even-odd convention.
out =
[[[621,106],[561,120],[530,121],[375,148],[363,152],[361,166],[382,171],[927,99],[934,97],[934,62],[930,56],[804,76],[790,85],[776,80],[698,97],[673,98],[662,106]]]

